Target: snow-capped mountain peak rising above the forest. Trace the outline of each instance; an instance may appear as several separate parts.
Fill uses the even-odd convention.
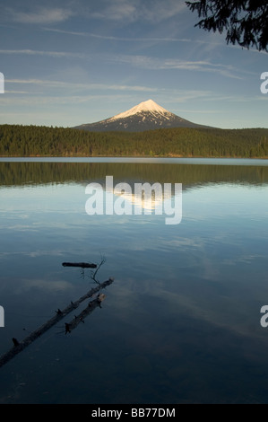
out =
[[[142,132],[143,130],[159,129],[167,127],[207,127],[197,125],[186,119],[182,119],[176,114],[163,109],[152,100],[141,102],[123,113],[117,114],[109,119],[101,120],[96,123],[89,123],[74,127],[75,129],[91,130],[92,132],[105,131],[129,131]]]

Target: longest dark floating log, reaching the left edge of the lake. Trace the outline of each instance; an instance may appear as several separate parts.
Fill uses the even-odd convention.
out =
[[[38,330],[32,331],[30,333],[30,335],[26,338],[24,338],[21,342],[17,340],[17,338],[13,338],[13,348],[11,348],[7,353],[5,353],[4,355],[0,356],[0,367],[4,366],[5,364],[7,364],[7,362],[9,362],[11,359],[13,359],[14,356],[18,355],[19,353],[22,352],[22,350],[24,350],[24,348],[30,346],[30,344],[36,340],[37,338],[39,338],[40,336],[42,336],[43,334],[45,334],[46,331],[48,331],[49,329],[51,329],[51,327],[53,327],[58,321],[61,321],[63,318],[65,318],[65,316],[72,312],[74,309],[78,308],[78,306],[80,305],[80,303],[82,303],[83,301],[85,301],[86,299],[88,299],[89,297],[92,297],[93,295],[95,295],[96,293],[99,292],[99,290],[111,285],[114,282],[114,278],[109,278],[107,281],[104,281],[103,283],[100,283],[99,286],[93,287],[91,288],[91,290],[83,295],[80,299],[78,299],[75,302],[71,302],[64,310],[60,310],[58,309],[56,311],[56,315],[51,318],[50,320],[48,320],[44,325],[42,325],[41,327],[39,327]],[[98,303],[98,305],[101,303],[101,300],[99,299],[100,297],[103,297],[104,295],[98,295],[97,299],[92,301],[92,303]],[[93,306],[95,306],[93,304]],[[94,307],[94,309],[96,308],[96,306]],[[77,324],[78,325],[78,324]],[[73,330],[73,329],[72,329]]]

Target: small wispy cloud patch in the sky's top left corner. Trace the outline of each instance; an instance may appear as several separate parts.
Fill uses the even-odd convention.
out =
[[[64,22],[73,16],[73,11],[64,8],[39,7],[35,11],[18,12],[13,9],[7,9],[7,13],[13,22],[48,24]]]

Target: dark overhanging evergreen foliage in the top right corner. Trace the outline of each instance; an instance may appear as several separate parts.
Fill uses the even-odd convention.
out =
[[[186,2],[204,19],[195,26],[206,31],[227,31],[227,43],[268,51],[267,0],[201,0]]]

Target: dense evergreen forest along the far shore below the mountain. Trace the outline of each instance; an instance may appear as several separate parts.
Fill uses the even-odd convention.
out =
[[[0,156],[268,158],[268,129],[180,127],[132,133],[0,125]]]

